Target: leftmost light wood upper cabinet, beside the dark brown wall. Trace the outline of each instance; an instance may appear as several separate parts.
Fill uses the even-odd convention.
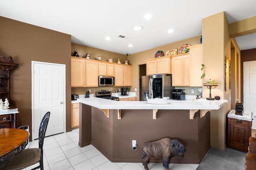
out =
[[[71,87],[85,87],[85,60],[71,57]]]

